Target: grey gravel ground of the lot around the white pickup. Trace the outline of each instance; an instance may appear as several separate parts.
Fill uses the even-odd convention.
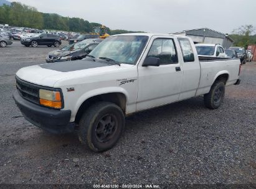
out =
[[[0,183],[255,186],[256,62],[242,66],[242,83],[226,88],[219,109],[198,97],[133,114],[118,144],[94,153],[75,133],[54,136],[33,126],[12,99],[16,71],[44,63],[54,49],[17,41],[0,48]]]

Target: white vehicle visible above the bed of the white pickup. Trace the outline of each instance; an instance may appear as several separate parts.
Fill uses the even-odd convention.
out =
[[[206,57],[220,57],[225,58],[224,48],[219,44],[196,44],[197,54]]]

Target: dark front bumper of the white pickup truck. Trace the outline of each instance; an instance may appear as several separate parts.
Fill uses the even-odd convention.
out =
[[[58,110],[39,106],[22,98],[17,91],[13,93],[12,98],[14,98],[24,118],[35,126],[54,134],[74,131],[75,123],[69,122],[70,110]]]

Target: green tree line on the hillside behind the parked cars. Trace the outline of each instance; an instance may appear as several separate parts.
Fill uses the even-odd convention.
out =
[[[29,27],[34,29],[52,29],[65,30],[72,32],[90,33],[93,27],[102,24],[88,22],[78,17],[63,17],[59,14],[49,14],[38,12],[35,7],[21,4],[20,2],[11,2],[8,6],[0,6],[0,24],[15,25],[17,27]],[[110,30],[107,27],[107,33],[110,35],[131,33],[127,30]]]

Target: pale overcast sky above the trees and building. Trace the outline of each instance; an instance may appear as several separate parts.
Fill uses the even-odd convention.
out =
[[[169,34],[207,27],[225,34],[256,27],[255,0],[16,0],[40,12],[80,17],[110,29]]]

